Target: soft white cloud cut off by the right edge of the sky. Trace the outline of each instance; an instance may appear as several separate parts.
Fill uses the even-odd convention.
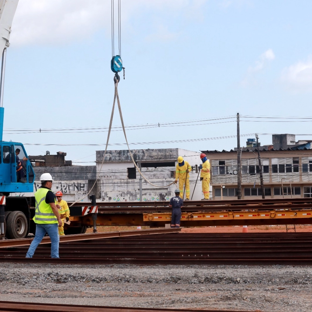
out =
[[[312,56],[283,69],[281,81],[290,89],[312,91]]]

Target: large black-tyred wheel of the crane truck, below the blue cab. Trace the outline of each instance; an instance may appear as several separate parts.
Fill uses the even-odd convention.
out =
[[[12,239],[24,238],[28,225],[26,216],[21,211],[12,211],[7,217],[7,236]]]

